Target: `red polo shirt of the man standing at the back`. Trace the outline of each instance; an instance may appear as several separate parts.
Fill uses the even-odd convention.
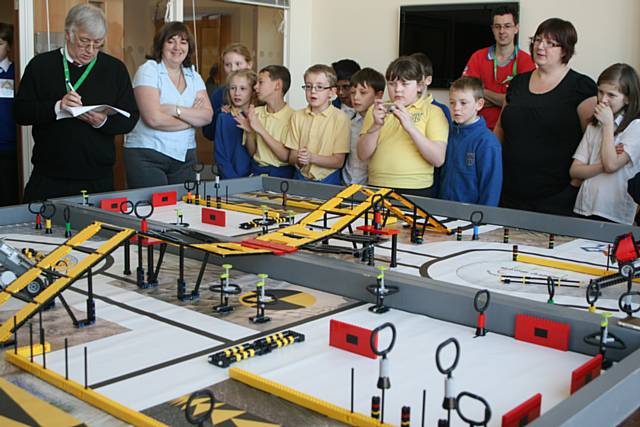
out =
[[[477,50],[469,58],[462,75],[477,77],[482,80],[485,89],[505,94],[511,79],[516,74],[536,69],[536,64],[531,59],[531,56],[527,52],[518,49],[517,46],[505,64],[497,63],[495,55],[496,45]],[[513,70],[514,62],[516,66],[515,72]],[[500,110],[502,110],[502,106],[495,105],[485,106],[480,110],[480,116],[484,117],[489,129],[493,129],[496,126],[498,117],[500,117]]]

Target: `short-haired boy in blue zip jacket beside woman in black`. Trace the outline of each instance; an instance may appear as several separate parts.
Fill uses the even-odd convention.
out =
[[[482,81],[461,77],[449,89],[453,123],[442,167],[440,198],[497,206],[502,188],[502,147],[478,112]]]

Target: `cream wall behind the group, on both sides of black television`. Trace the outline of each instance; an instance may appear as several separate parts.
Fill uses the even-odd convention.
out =
[[[400,6],[474,3],[473,0],[291,0],[290,65],[292,77],[312,63],[353,58],[362,66],[384,72],[398,54]],[[310,10],[309,10],[310,9]],[[301,23],[297,19],[307,18]],[[640,68],[640,1],[638,0],[521,0],[522,40],[550,17],[569,20],[578,31],[571,66],[597,78],[614,62]],[[489,28],[487,28],[489,31]],[[311,34],[307,34],[307,33]],[[302,37],[308,45],[296,40]],[[305,62],[306,61],[306,62]],[[304,64],[304,65],[303,65]],[[294,72],[296,74],[294,74]],[[300,74],[299,76],[297,74]],[[294,86],[295,91],[295,86]],[[446,92],[436,97],[446,99]],[[301,102],[296,105],[295,103]],[[294,107],[304,105],[293,97]]]

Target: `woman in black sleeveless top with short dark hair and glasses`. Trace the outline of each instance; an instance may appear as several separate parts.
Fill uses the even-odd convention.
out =
[[[538,68],[515,76],[495,133],[502,141],[501,206],[571,215],[579,181],[569,168],[596,104],[597,86],[568,63],[578,35],[551,18],[531,38]]]

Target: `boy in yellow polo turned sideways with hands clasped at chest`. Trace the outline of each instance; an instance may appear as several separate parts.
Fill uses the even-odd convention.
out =
[[[289,149],[284,141],[289,133],[293,109],[284,101],[291,85],[291,74],[282,65],[269,65],[258,73],[255,90],[258,100],[266,105],[249,107],[249,113],[237,121],[245,130],[246,146],[251,159],[252,175],[293,177],[289,165]]]

